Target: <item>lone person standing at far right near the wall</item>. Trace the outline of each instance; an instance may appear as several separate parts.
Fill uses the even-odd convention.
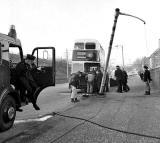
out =
[[[150,76],[150,71],[148,70],[147,66],[144,66],[143,68],[144,68],[143,81],[145,82],[145,95],[150,95],[149,83],[152,81]]]

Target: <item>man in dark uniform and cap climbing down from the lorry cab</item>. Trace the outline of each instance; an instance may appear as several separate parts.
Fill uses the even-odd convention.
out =
[[[19,86],[22,86],[24,89],[27,90],[26,96],[32,102],[35,110],[40,110],[40,108],[36,104],[36,99],[33,96],[35,90],[38,88],[31,74],[31,64],[33,63],[32,61],[34,59],[34,56],[28,54],[26,59],[17,64],[16,74]]]

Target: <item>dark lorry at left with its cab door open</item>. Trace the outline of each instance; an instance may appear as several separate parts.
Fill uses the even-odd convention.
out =
[[[55,48],[36,47],[31,54],[36,57],[38,69],[33,73],[39,87],[34,93],[37,98],[45,87],[55,86]],[[0,33],[0,132],[12,127],[16,110],[29,103],[24,98],[26,91],[22,92],[16,83],[15,67],[24,59],[20,40]]]

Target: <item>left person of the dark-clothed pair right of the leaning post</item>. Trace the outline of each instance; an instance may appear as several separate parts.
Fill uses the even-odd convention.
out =
[[[122,93],[122,80],[123,80],[123,72],[119,66],[116,66],[115,77],[118,84],[117,92]]]

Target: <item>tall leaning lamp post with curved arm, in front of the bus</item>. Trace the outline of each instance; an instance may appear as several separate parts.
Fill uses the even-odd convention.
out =
[[[108,68],[108,64],[109,64],[110,54],[111,54],[111,50],[112,50],[112,43],[113,43],[113,39],[114,39],[114,33],[115,33],[116,24],[117,24],[117,20],[118,20],[119,15],[130,16],[130,17],[136,18],[136,19],[140,20],[141,22],[143,22],[144,24],[146,24],[146,22],[144,20],[142,20],[141,18],[139,18],[137,16],[122,13],[122,12],[120,12],[119,8],[115,9],[114,24],[112,27],[112,33],[111,33],[111,38],[110,38],[109,47],[108,47],[108,55],[107,55],[106,65],[105,65],[105,69],[104,69],[104,73],[103,73],[103,77],[102,77],[102,82],[101,82],[101,87],[100,87],[100,91],[99,91],[99,94],[102,94],[102,95],[104,94],[104,86],[105,86],[106,77],[107,77],[107,68]]]

